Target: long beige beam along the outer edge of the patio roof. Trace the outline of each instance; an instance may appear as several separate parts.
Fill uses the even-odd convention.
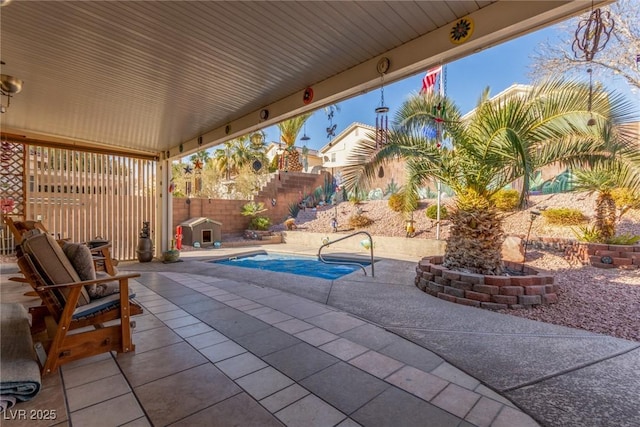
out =
[[[594,6],[602,6],[612,1],[596,0]],[[321,82],[309,82],[314,97],[313,102],[308,105],[302,102],[304,90],[298,90],[284,99],[265,105],[260,110],[255,110],[242,117],[232,118],[228,122],[204,132],[200,136],[202,144],[198,143],[199,138],[183,141],[165,152],[164,157],[186,156],[299,114],[314,111],[376,89],[381,83],[376,65],[382,57],[390,59],[390,69],[385,75],[385,84],[389,84],[425,71],[430,67],[451,62],[560,22],[591,7],[591,2],[580,0],[498,1],[492,3],[469,15],[475,24],[475,29],[466,43],[456,45],[449,41],[452,22],[334,77]],[[262,109],[269,111],[267,120],[262,120],[260,117]]]

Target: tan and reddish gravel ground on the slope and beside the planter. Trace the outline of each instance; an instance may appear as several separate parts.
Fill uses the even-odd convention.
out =
[[[445,206],[451,203],[450,200],[442,202]],[[530,210],[545,207],[575,208],[592,217],[594,202],[595,195],[585,193],[532,196]],[[414,213],[415,238],[435,238],[435,223],[424,214],[426,207],[434,203],[435,200],[424,201]],[[338,228],[344,230],[348,228],[348,218],[358,207],[364,215],[375,221],[363,230],[379,236],[405,235],[404,218],[391,211],[386,200],[368,201],[359,206],[344,202],[337,207],[307,209],[298,215],[296,224],[300,232],[329,232],[331,218],[337,214]],[[550,226],[543,218],[536,219],[531,224],[530,217],[529,211],[507,214],[505,232],[526,235],[531,225],[532,238],[575,238],[571,227]],[[448,232],[449,225],[445,221],[441,225],[441,237],[446,238]],[[618,225],[618,233],[640,235],[640,210],[629,211],[623,217]],[[528,251],[527,264],[555,276],[559,302],[526,310],[502,310],[502,313],[640,342],[640,270],[606,270],[571,265],[562,254],[552,251]]]

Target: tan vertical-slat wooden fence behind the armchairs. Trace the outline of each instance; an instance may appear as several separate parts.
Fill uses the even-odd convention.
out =
[[[136,259],[142,223],[155,229],[156,162],[24,147],[24,214],[9,214],[41,220],[55,237],[109,240],[115,258]]]

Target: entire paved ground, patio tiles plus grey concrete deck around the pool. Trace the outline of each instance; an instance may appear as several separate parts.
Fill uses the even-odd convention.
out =
[[[83,425],[118,400],[118,423],[136,425],[640,424],[640,343],[430,297],[413,286],[411,258],[376,253],[375,277],[333,281],[202,262],[254,249],[317,252],[268,245],[123,264],[142,274],[136,353],[100,362],[110,374],[98,379],[95,365],[65,366],[68,419]],[[17,293],[6,276],[3,302]],[[89,398],[83,369],[119,378],[120,394]]]

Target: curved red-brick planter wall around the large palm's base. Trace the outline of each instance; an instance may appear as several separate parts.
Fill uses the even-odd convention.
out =
[[[527,308],[558,301],[553,276],[524,267],[524,276],[486,276],[442,266],[442,256],[425,257],[416,267],[415,285],[446,301],[490,310]],[[521,264],[505,262],[520,270]]]

